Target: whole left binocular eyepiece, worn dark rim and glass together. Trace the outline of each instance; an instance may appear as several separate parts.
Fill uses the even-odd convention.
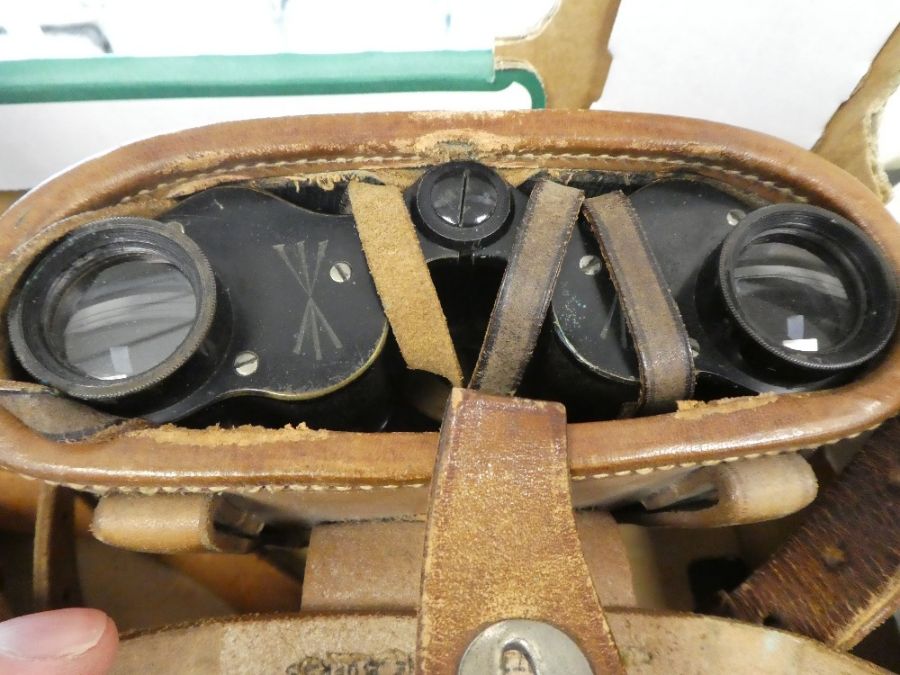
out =
[[[185,365],[216,285],[196,244],[141,218],[87,225],[52,248],[15,297],[9,334],[40,382],[86,399],[146,391]]]

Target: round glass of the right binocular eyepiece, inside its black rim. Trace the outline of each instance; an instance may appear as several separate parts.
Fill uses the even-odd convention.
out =
[[[747,246],[734,272],[737,301],[761,338],[798,352],[835,348],[856,328],[862,298],[837,260],[781,241]]]

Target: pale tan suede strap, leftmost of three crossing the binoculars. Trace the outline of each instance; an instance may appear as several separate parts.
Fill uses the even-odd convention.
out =
[[[462,384],[450,329],[403,195],[396,187],[351,182],[350,207],[384,313],[409,368]]]

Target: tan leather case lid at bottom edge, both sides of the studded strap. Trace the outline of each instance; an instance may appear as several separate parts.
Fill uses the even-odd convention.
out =
[[[736,621],[613,610],[631,675],[887,675],[790,633]],[[125,640],[111,671],[169,673],[394,673],[414,671],[415,619],[402,614],[243,617],[149,632]],[[456,672],[456,671],[442,671]],[[494,672],[502,672],[499,668]],[[525,672],[508,670],[506,672]]]

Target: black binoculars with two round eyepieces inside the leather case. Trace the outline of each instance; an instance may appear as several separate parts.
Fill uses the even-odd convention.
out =
[[[689,336],[699,399],[850,381],[893,334],[893,271],[835,213],[750,203],[696,177],[550,179],[588,196],[628,194]],[[464,370],[534,185],[449,162],[404,193]],[[220,186],[154,220],[77,228],[12,299],[19,364],[73,398],[153,423],[433,428],[409,400],[410,377],[422,374],[404,367],[345,188]],[[614,275],[582,217],[519,391],[595,420],[639,387]]]

